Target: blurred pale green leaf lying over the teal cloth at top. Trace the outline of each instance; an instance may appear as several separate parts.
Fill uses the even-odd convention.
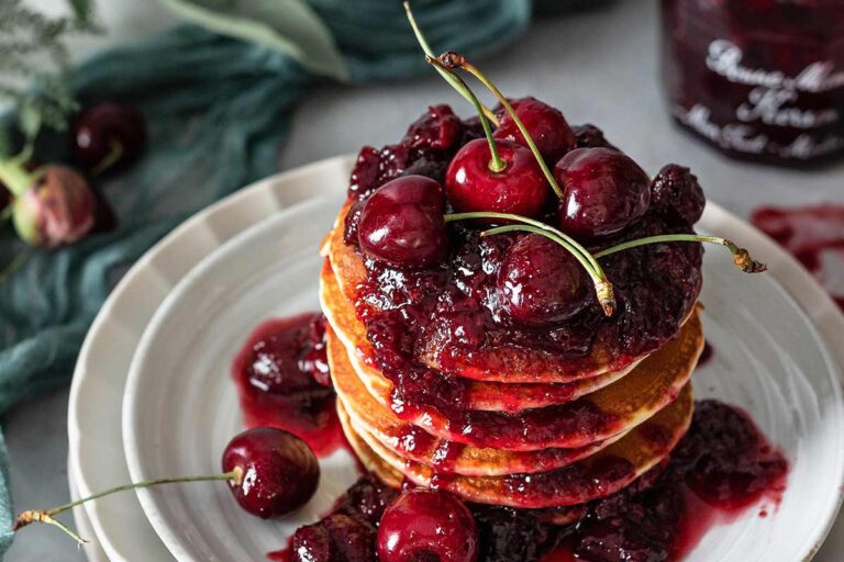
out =
[[[276,48],[306,68],[347,78],[329,27],[303,0],[159,0],[184,20],[223,35]]]

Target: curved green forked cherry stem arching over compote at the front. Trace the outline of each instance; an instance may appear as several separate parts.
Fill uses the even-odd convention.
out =
[[[589,273],[589,277],[592,279],[592,283],[595,284],[595,292],[598,295],[598,302],[601,304],[601,308],[603,308],[603,312],[607,316],[612,316],[612,313],[615,311],[615,296],[613,294],[612,283],[609,279],[607,279],[607,274],[603,272],[603,269],[598,263],[596,257],[592,256],[589,250],[578,244],[577,240],[564,232],[558,231],[553,226],[548,226],[543,222],[510,213],[476,212],[453,213],[445,215],[446,223],[471,218],[498,218],[522,223],[490,228],[481,233],[481,236],[492,236],[495,234],[520,231],[545,236],[546,238],[549,238],[563,246],[575,257],[575,259],[577,259],[577,261],[580,262],[584,269],[586,269],[586,272]]]

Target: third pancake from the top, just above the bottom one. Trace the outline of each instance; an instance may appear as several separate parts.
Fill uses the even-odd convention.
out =
[[[677,397],[703,348],[702,327],[696,314],[677,338],[630,374],[577,401],[515,414],[467,411],[455,415],[403,405],[399,416],[390,407],[389,392],[370,394],[331,329],[327,338],[337,395],[354,417],[365,420],[373,432],[386,436],[388,442],[409,431],[406,426],[395,429],[401,417],[446,441],[508,451],[577,449],[623,434]]]

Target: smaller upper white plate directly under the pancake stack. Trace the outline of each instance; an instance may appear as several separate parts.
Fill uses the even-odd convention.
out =
[[[133,479],[216,469],[226,440],[242,427],[229,366],[263,319],[318,307],[316,248],[338,205],[340,200],[311,201],[256,226],[203,260],[165,300],[135,353],[123,402]],[[711,229],[718,214],[710,210],[703,229]],[[837,369],[777,273],[749,278],[723,251],[707,254],[701,300],[717,351],[696,379],[699,396],[747,408],[784,449],[792,463],[789,486],[776,516],[759,518],[751,509],[715,527],[689,562],[800,560],[839,507],[844,414]],[[330,461],[337,471],[337,459]],[[259,560],[331,505],[343,490],[340,482],[354,479],[354,462],[346,457],[346,463],[323,479],[302,513],[275,524],[241,513],[224,486],[138,495],[177,559]]]

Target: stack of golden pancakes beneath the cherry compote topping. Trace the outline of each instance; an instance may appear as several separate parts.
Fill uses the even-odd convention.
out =
[[[675,339],[620,371],[610,370],[598,350],[591,364],[604,368],[579,371],[535,368],[543,352],[533,350],[498,361],[500,372],[449,366],[448,376],[466,379],[469,408],[488,425],[484,430],[453,429],[433,408],[399,417],[391,408],[392,383],[376,367],[356,315],[366,270],[357,250],[343,240],[349,206],[322,248],[320,297],[341,420],[369,470],[393,485],[408,479],[469,502],[540,508],[612,494],[668,457],[691,420],[689,379],[703,348],[697,310]],[[543,419],[574,416],[584,405],[600,418],[589,431],[573,420],[562,424],[570,430],[552,439],[530,438]],[[506,429],[501,435],[521,431],[525,438],[501,439],[499,428]]]

